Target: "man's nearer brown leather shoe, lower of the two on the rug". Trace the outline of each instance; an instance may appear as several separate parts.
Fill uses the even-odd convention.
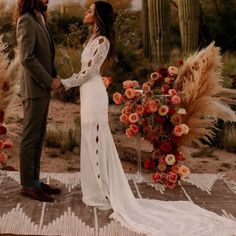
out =
[[[41,202],[53,202],[54,198],[50,195],[48,195],[46,192],[44,192],[41,188],[22,188],[21,194],[24,194],[28,197],[31,197],[33,199],[36,199]]]

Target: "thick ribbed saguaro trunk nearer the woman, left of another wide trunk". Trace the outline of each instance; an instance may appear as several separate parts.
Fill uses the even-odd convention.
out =
[[[169,60],[170,1],[148,0],[151,59],[156,64]]]

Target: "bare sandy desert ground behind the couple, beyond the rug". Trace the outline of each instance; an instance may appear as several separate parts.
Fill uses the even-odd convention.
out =
[[[73,128],[73,120],[79,116],[79,104],[64,103],[57,99],[52,99],[48,115],[48,127],[57,125],[62,129]],[[122,160],[125,172],[134,172],[137,170],[137,140],[128,139],[121,130],[118,121],[119,109],[110,106],[109,120],[112,134]],[[8,166],[19,170],[19,144],[22,131],[22,105],[17,96],[9,107],[5,122],[8,128],[8,137],[14,142],[14,147],[9,150],[10,158]],[[152,151],[149,143],[141,141],[142,159],[148,158]],[[226,177],[236,181],[236,154],[224,150],[206,149],[200,157],[193,157],[194,153],[200,150],[192,147],[183,147],[185,154],[183,164],[188,166],[193,173],[224,173]],[[56,155],[53,155],[57,153]],[[192,156],[193,155],[193,156]],[[41,171],[44,172],[72,172],[79,171],[79,155],[66,151],[60,154],[56,148],[43,147]]]

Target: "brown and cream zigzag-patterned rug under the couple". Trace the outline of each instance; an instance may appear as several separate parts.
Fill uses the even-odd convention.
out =
[[[55,203],[21,196],[19,172],[0,171],[1,235],[141,235],[110,220],[112,210],[100,211],[82,203],[80,173],[42,173],[41,177],[62,189]],[[137,198],[188,200],[236,220],[236,183],[221,174],[191,174],[173,190],[151,183],[149,175],[144,175],[141,183],[135,174],[127,174],[127,178]]]

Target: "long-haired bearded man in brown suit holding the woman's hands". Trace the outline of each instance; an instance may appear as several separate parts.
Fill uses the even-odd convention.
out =
[[[60,189],[40,182],[40,156],[46,131],[50,91],[60,86],[54,66],[55,47],[46,23],[48,0],[19,0],[15,14],[22,65],[24,125],[20,147],[21,193],[52,202]]]

